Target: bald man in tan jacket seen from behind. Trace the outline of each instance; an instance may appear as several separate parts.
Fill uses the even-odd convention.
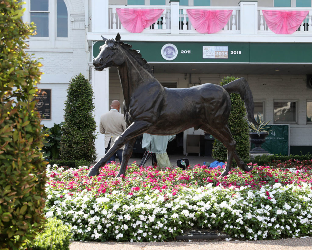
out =
[[[124,115],[119,113],[120,103],[117,100],[112,101],[110,111],[101,115],[100,133],[104,134],[105,153],[112,147],[116,138],[126,130],[126,122]],[[122,150],[124,146],[119,148],[116,153],[108,160],[107,163],[115,161],[116,154],[119,162],[122,161]]]

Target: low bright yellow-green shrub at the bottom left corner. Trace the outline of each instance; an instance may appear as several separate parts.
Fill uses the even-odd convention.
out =
[[[36,236],[34,242],[27,241],[23,249],[27,250],[66,250],[69,249],[71,226],[61,220],[48,218],[43,232]]]

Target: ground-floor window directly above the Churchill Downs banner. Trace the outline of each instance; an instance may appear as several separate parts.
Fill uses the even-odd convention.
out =
[[[274,123],[297,123],[297,101],[274,101]]]

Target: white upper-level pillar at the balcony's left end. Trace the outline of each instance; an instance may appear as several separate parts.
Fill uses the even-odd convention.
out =
[[[92,32],[108,32],[108,0],[92,0]]]

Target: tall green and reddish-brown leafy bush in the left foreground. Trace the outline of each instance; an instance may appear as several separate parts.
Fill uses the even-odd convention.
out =
[[[40,115],[33,102],[41,64],[24,52],[34,32],[21,2],[0,1],[0,248],[32,240],[45,219],[46,163]]]

